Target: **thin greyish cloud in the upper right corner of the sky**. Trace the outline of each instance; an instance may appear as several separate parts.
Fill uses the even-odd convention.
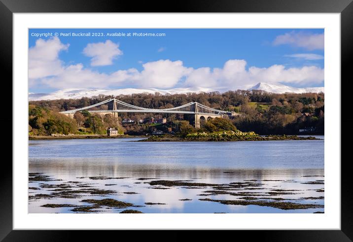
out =
[[[308,50],[324,49],[324,34],[309,34],[303,32],[290,32],[279,35],[273,41],[274,45],[290,44],[296,47],[302,47]]]

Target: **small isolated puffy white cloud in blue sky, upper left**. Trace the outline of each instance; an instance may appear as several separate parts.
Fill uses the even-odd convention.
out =
[[[113,43],[107,39],[105,43],[89,43],[83,49],[83,54],[92,57],[91,66],[108,66],[113,64],[113,59],[116,59],[123,52],[119,49],[119,44]]]

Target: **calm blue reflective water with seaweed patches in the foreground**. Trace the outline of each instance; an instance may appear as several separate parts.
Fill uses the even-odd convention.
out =
[[[50,175],[52,179],[62,180],[29,182],[29,212],[74,212],[71,211],[72,207],[41,206],[90,206],[92,204],[81,201],[106,198],[143,207],[102,206],[96,209],[97,212],[118,213],[125,209],[150,213],[324,211],[323,207],[286,210],[278,207],[218,203],[219,200],[239,201],[252,196],[261,201],[274,202],[271,198],[280,198],[284,200],[276,202],[323,205],[324,140],[133,142],[138,139],[30,140],[29,173],[43,173],[42,175]],[[158,180],[183,180],[213,185],[190,187],[149,184]],[[210,192],[215,189],[214,184],[229,186],[234,182],[249,185],[240,189],[218,188],[217,194]],[[308,182],[309,184],[303,184]],[[314,184],[310,184],[313,182]],[[65,187],[68,184],[70,187]],[[79,196],[73,198],[34,197],[37,194],[50,195],[55,192],[84,189],[109,190],[112,194],[86,194],[80,191]],[[221,193],[220,190],[226,192]],[[274,195],[271,192],[280,193]],[[247,194],[249,195],[246,196]],[[180,201],[182,199],[189,200]]]

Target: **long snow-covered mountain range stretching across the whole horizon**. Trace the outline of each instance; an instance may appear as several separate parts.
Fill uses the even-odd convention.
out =
[[[307,93],[307,92],[324,92],[323,87],[306,87],[306,88],[297,88],[297,87],[290,87],[285,86],[279,83],[265,83],[259,82],[255,86],[250,88],[234,88],[234,90],[243,89],[243,90],[263,90],[266,92],[271,93]],[[195,87],[195,88],[173,88],[169,90],[160,90],[156,88],[145,88],[145,89],[136,89],[136,88],[123,88],[123,89],[114,89],[114,90],[106,90],[106,89],[63,89],[58,90],[52,93],[29,93],[28,98],[30,101],[39,101],[39,100],[56,100],[56,99],[80,99],[82,97],[91,98],[93,96],[98,96],[100,94],[109,96],[117,96],[117,95],[128,95],[128,94],[137,94],[137,93],[151,93],[154,94],[155,92],[159,92],[163,95],[165,94],[182,94],[182,93],[189,93],[189,92],[212,92],[216,91],[215,89],[211,88],[202,88],[202,87]],[[228,91],[224,88],[218,89],[217,91],[225,92]]]

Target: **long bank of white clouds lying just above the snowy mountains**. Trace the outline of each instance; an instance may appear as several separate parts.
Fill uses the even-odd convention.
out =
[[[222,68],[185,67],[180,60],[158,60],[142,64],[142,70],[120,69],[104,73],[85,68],[82,64],[65,66],[58,58],[68,49],[58,38],[37,40],[30,48],[29,84],[51,88],[109,88],[135,85],[167,89],[175,86],[235,89],[257,82],[315,84],[323,81],[324,69],[316,66],[285,68],[249,67],[245,60],[228,60]]]

